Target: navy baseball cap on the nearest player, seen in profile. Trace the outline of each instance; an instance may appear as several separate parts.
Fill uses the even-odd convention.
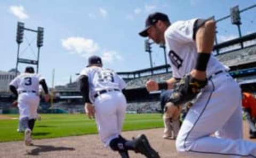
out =
[[[141,32],[139,32],[139,35],[142,36],[142,37],[148,37],[147,30],[151,26],[156,24],[156,22],[158,20],[170,22],[168,16],[164,13],[155,12],[155,13],[149,14],[147,19],[146,19],[146,22],[145,22],[145,29],[142,30]]]

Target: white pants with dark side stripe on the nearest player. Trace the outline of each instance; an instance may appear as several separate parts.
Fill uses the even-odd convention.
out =
[[[256,157],[256,144],[242,139],[241,100],[229,74],[212,77],[183,121],[177,150],[196,157]]]

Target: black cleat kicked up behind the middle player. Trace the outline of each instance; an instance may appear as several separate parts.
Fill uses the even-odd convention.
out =
[[[150,146],[148,139],[145,135],[139,135],[134,139],[135,152],[141,153],[148,158],[159,158],[158,153]]]

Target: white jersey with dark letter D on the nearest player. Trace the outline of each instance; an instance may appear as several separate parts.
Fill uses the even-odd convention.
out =
[[[196,20],[175,22],[165,31],[166,53],[175,78],[189,74],[196,66],[197,50],[193,39]],[[226,68],[211,55],[206,69],[207,76],[220,70],[226,70]]]

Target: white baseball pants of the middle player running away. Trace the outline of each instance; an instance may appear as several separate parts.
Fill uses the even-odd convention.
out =
[[[126,110],[125,96],[118,91],[101,94],[95,98],[94,109],[99,135],[107,147],[112,139],[121,134]]]

